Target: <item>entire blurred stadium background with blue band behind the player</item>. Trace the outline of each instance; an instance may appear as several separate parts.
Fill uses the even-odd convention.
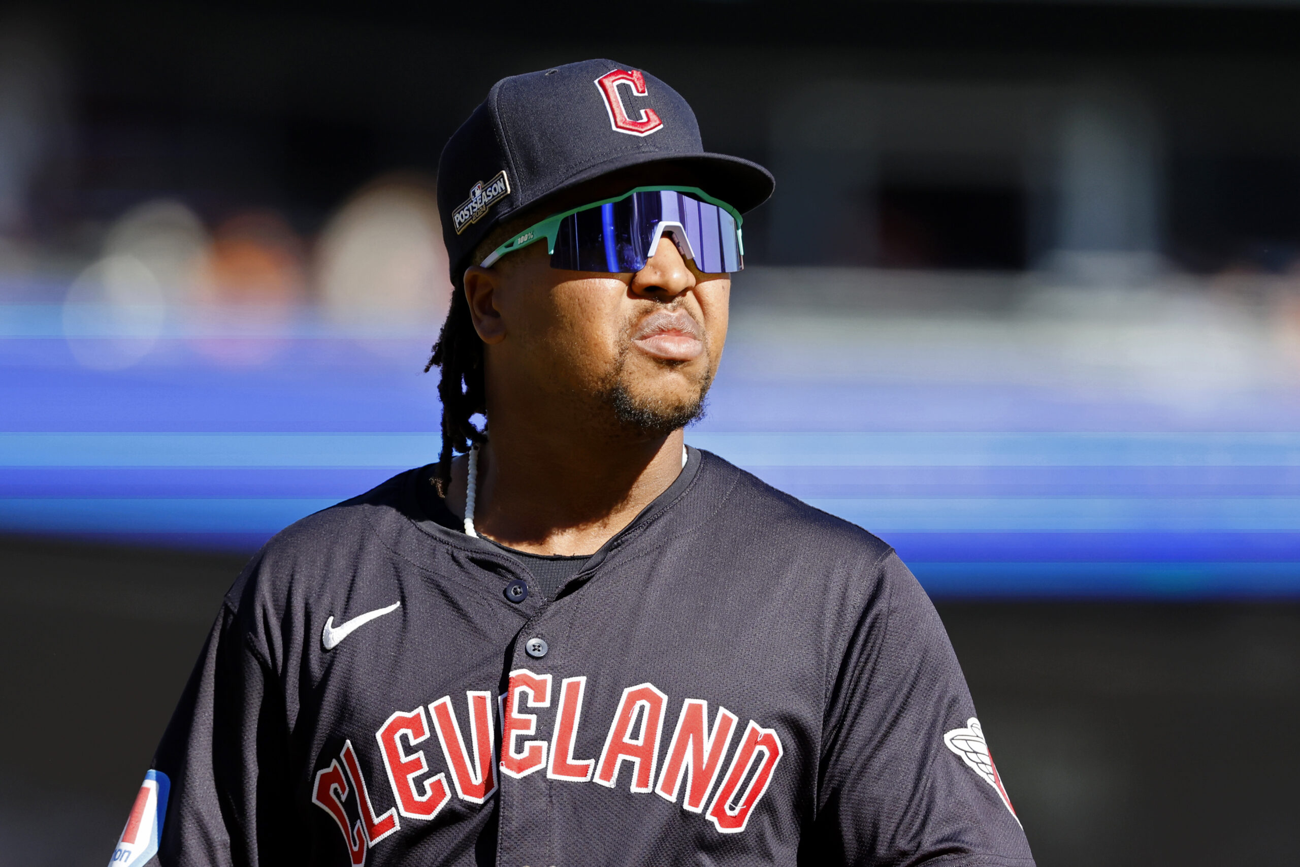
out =
[[[0,8],[0,863],[104,863],[244,559],[436,458],[438,153],[593,56],[775,172],[688,441],[898,549],[1039,863],[1294,864],[1291,0]]]

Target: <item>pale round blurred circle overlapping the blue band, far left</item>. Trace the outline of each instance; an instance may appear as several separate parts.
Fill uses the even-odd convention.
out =
[[[88,368],[121,370],[153,348],[166,320],[157,278],[133,256],[100,259],[68,289],[64,337]]]

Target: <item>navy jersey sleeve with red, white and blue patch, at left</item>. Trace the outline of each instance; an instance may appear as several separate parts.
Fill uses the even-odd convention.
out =
[[[292,862],[277,850],[290,802],[282,692],[237,604],[228,597],[212,627],[113,867]]]

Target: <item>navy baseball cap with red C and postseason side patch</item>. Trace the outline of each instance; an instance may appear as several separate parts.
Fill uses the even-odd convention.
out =
[[[742,213],[775,186],[757,162],[706,152],[690,105],[646,71],[584,60],[503,78],[438,161],[452,282],[460,283],[474,247],[511,214],[604,175],[627,175],[628,188],[699,187]]]

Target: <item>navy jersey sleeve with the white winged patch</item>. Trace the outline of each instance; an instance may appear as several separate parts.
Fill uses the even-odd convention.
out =
[[[893,552],[833,682],[801,862],[1031,867],[948,633]]]

